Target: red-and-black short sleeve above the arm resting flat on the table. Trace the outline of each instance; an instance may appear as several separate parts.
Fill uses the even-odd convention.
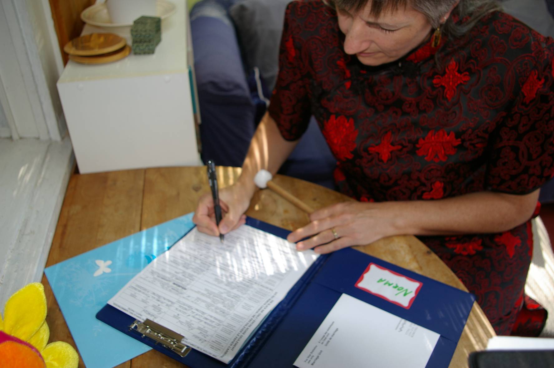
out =
[[[489,139],[489,190],[528,194],[554,175],[554,43],[531,34],[529,54],[520,51],[509,68],[513,79],[505,77],[505,86],[514,85],[514,100]]]

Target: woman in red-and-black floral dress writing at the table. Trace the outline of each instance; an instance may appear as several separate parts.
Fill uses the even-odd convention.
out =
[[[327,6],[330,5],[330,6]],[[311,115],[358,202],[311,215],[289,235],[327,253],[417,235],[510,334],[530,265],[530,219],[554,174],[551,39],[489,0],[293,2],[268,113],[238,183],[194,222],[217,235],[244,223],[253,177],[275,173]]]

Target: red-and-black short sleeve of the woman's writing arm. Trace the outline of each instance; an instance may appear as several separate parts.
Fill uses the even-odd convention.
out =
[[[308,71],[302,50],[302,17],[305,4],[292,2],[285,11],[285,24],[279,48],[279,74],[268,112],[283,138],[296,141],[306,131],[311,110],[308,96]]]

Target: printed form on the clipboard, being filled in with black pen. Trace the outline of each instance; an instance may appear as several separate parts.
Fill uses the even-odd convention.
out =
[[[228,363],[316,258],[252,226],[226,234],[223,243],[195,227],[108,304]]]

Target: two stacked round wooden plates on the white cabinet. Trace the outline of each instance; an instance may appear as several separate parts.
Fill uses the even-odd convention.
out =
[[[105,64],[121,60],[131,48],[124,38],[113,33],[91,33],[68,42],[64,51],[80,64]]]

